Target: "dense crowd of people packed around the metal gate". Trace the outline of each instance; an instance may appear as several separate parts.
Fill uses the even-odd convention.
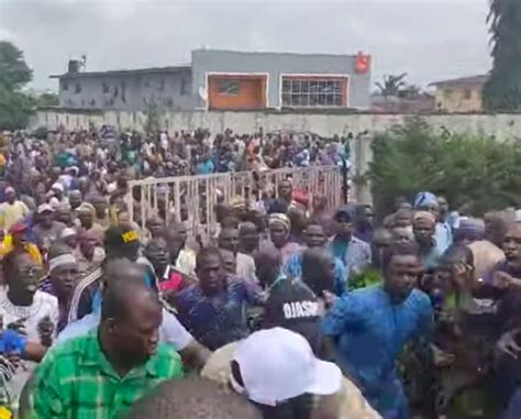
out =
[[[346,141],[3,140],[0,417],[521,416],[514,209],[473,218],[424,191],[376,220],[302,205],[287,178],[214,202],[202,243],[182,217],[136,225],[129,179],[342,164]]]

